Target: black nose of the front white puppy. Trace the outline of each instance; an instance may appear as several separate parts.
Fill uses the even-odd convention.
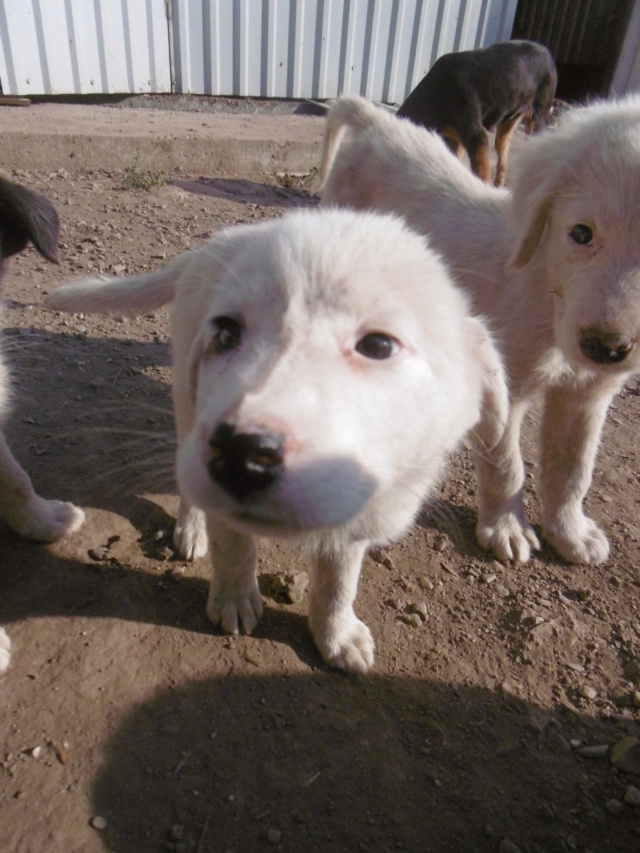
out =
[[[221,423],[209,438],[207,468],[216,483],[236,500],[264,489],[283,466],[284,441],[271,433],[238,433]]]

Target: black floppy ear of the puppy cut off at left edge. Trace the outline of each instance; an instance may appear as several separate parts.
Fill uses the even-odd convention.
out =
[[[0,250],[15,255],[29,240],[40,254],[58,263],[60,220],[48,198],[35,190],[0,178]]]

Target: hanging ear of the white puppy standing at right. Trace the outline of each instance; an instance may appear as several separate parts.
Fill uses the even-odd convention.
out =
[[[562,184],[565,152],[554,144],[554,131],[543,131],[520,153],[509,211],[513,250],[507,267],[522,267],[533,257]]]

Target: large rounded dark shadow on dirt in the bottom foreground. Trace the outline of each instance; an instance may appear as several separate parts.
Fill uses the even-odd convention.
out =
[[[505,838],[559,850],[576,791],[600,803],[614,787],[608,762],[587,777],[565,748],[585,727],[593,743],[616,736],[613,721],[428,679],[187,680],[121,720],[92,813],[106,819],[105,849],[138,853],[173,849],[178,832],[184,849],[209,853],[280,838],[291,851],[471,853]],[[628,822],[599,808],[571,830],[572,848],[631,849]]]

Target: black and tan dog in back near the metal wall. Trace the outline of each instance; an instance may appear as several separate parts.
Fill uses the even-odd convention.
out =
[[[495,130],[495,185],[501,187],[511,137],[523,119],[527,133],[545,126],[556,82],[546,47],[531,41],[499,42],[441,56],[398,115],[435,130],[457,156],[466,150],[472,170],[484,181],[491,180],[487,131]]]

